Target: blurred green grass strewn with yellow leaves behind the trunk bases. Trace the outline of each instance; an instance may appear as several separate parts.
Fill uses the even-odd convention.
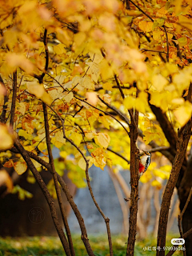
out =
[[[178,234],[170,234],[167,245],[171,246],[170,240],[177,238]],[[90,235],[90,244],[95,256],[110,256],[108,242],[104,235]],[[114,256],[125,256],[126,236],[113,236]],[[86,250],[80,239],[80,235],[73,235],[74,249],[77,256],[86,256]],[[135,256],[155,255],[155,238],[146,238],[136,242]],[[180,247],[182,249],[182,247]],[[64,256],[61,242],[55,237],[26,237],[26,238],[0,238],[0,256]],[[182,250],[174,254],[182,255]]]

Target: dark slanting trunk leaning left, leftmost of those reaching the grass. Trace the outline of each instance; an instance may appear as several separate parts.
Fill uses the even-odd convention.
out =
[[[38,173],[38,170],[34,167],[33,162],[30,160],[29,154],[27,154],[26,150],[23,148],[23,146],[20,144],[17,138],[14,140],[14,146],[18,150],[19,154],[22,154],[22,158],[26,161],[27,166],[31,170],[31,172],[34,174],[34,178],[38,182],[38,185],[40,186],[42,193],[44,194],[46,201],[48,205],[50,206],[50,214],[54,221],[54,226],[56,227],[56,230],[58,231],[58,236],[62,242],[62,246],[66,252],[67,256],[70,256],[70,248],[68,246],[68,242],[66,240],[66,236],[62,230],[62,226],[58,222],[58,214],[56,211],[56,208],[54,206],[54,200],[50,196],[49,190],[47,190],[45,182],[43,182],[41,175]]]

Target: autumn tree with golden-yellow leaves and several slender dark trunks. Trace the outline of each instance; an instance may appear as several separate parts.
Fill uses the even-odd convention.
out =
[[[110,220],[94,198],[88,169],[93,164],[102,170],[106,165],[130,169],[128,256],[134,255],[137,231],[138,140],[172,165],[166,174],[170,178],[162,198],[157,246],[166,246],[176,186],[180,210],[184,209],[180,234],[191,255],[191,1],[0,2],[2,164],[13,166],[18,174],[28,168],[34,175],[66,255],[74,255],[74,246],[58,183],[78,218],[87,254],[94,251],[82,215],[55,168],[53,146],[60,150],[72,180],[79,174],[86,178],[106,222],[110,255]],[[18,159],[7,161],[7,150]],[[53,175],[65,232],[39,168]],[[158,186],[163,172],[159,169],[157,174],[154,166],[141,182],[148,178]],[[165,250],[157,250],[157,255],[165,255]]]

